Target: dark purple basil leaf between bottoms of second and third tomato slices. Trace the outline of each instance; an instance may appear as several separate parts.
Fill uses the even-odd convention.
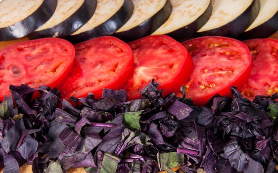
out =
[[[102,98],[113,98],[120,103],[127,101],[127,92],[124,89],[120,90],[112,90],[103,88],[102,90]]]

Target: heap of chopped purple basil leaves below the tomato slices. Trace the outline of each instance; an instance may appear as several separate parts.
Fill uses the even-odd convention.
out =
[[[28,162],[34,173],[276,171],[277,93],[251,102],[232,87],[232,98],[196,107],[185,93],[163,99],[157,87],[151,82],[131,101],[123,89],[104,89],[100,100],[72,98],[74,108],[55,88],[11,85],[17,107],[10,96],[0,104],[0,169],[17,173]],[[34,92],[41,96],[31,100]]]

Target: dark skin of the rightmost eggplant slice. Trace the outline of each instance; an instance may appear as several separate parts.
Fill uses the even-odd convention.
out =
[[[261,25],[242,33],[239,40],[267,38],[278,31],[278,12]]]

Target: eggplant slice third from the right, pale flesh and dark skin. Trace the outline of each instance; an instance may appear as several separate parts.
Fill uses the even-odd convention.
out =
[[[170,0],[173,6],[169,19],[152,35],[166,34],[183,40],[198,31],[209,19],[211,0]]]

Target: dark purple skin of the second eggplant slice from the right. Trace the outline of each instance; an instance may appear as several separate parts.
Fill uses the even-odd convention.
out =
[[[253,0],[251,5],[231,22],[212,30],[203,31],[195,34],[201,36],[223,36],[236,38],[243,33],[256,19],[260,11],[260,0]]]

